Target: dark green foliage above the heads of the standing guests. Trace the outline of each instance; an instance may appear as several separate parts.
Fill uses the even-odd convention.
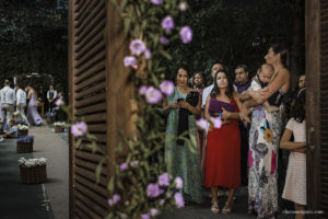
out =
[[[303,28],[296,28],[304,25],[301,2],[190,1],[181,22],[194,30],[194,41],[187,46],[178,41],[169,44],[168,51],[174,61],[165,61],[167,77],[173,78],[178,67],[187,65],[191,72],[204,71],[211,80],[210,69],[216,61],[223,62],[231,72],[236,65],[246,64],[255,73],[273,43],[290,47],[291,60],[296,66],[292,67],[295,68],[291,69],[292,73],[304,71],[301,58],[304,56],[304,33]]]

